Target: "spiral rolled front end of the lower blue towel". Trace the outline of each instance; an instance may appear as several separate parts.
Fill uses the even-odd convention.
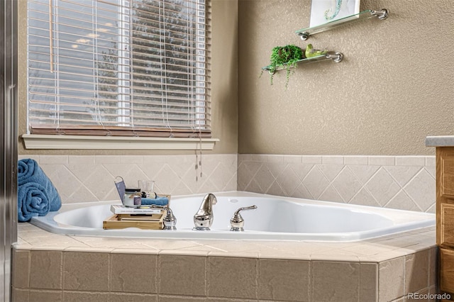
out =
[[[33,216],[45,216],[49,213],[49,196],[44,186],[28,182],[19,186],[17,196],[18,220],[31,220]]]

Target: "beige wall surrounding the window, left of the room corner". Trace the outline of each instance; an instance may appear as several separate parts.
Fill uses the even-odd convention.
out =
[[[27,1],[18,1],[18,133],[27,131]],[[213,138],[216,142],[211,154],[238,152],[238,1],[213,0],[211,6],[211,114]],[[193,154],[194,151],[149,150],[26,150],[19,139],[20,155],[159,155]]]

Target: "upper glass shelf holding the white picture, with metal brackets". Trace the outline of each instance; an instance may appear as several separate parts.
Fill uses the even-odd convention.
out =
[[[314,26],[310,28],[304,28],[301,30],[297,30],[295,33],[301,37],[302,40],[307,40],[309,35],[314,35],[315,33],[321,33],[326,30],[331,30],[338,26],[342,26],[346,23],[352,23],[354,21],[362,20],[362,19],[369,19],[373,17],[377,17],[380,20],[386,19],[388,16],[388,10],[382,9],[380,11],[373,11],[371,9],[367,9],[366,11],[361,11],[360,13],[356,13],[352,16],[347,16],[344,18],[340,18],[335,21],[330,21],[328,23],[323,23],[319,26]]]

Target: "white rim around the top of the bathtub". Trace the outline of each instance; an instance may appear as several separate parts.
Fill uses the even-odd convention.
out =
[[[375,208],[370,206],[360,206],[360,205],[352,205],[352,204],[345,204],[345,203],[335,203],[331,201],[313,201],[311,199],[304,199],[304,198],[292,198],[292,197],[283,197],[283,196],[274,196],[269,194],[256,194],[251,192],[243,192],[243,191],[228,191],[228,192],[215,192],[216,196],[228,196],[228,197],[267,197],[267,198],[279,198],[286,201],[293,201],[296,203],[309,203],[309,204],[316,204],[316,205],[326,205],[326,206],[336,206],[336,207],[346,207],[350,209],[356,209],[358,211],[367,211],[370,212],[373,209],[374,213],[394,213],[395,218],[399,220],[404,220],[403,216],[417,215],[421,217],[426,217],[427,219],[423,222],[407,222],[402,223],[399,226],[392,225],[389,227],[381,228],[380,230],[365,230],[360,233],[358,232],[346,232],[340,235],[339,233],[316,233],[316,234],[309,234],[304,233],[304,240],[301,240],[301,233],[278,233],[278,232],[268,232],[262,233],[258,231],[250,231],[245,230],[244,232],[231,232],[228,230],[209,230],[209,231],[196,231],[190,229],[178,229],[177,223],[177,230],[167,231],[167,230],[139,230],[136,228],[128,228],[122,230],[104,230],[104,229],[93,229],[93,228],[83,228],[77,226],[71,226],[71,228],[64,228],[60,223],[57,224],[53,217],[59,213],[64,211],[70,211],[73,208],[79,208],[82,206],[99,206],[104,204],[115,204],[119,203],[120,201],[96,201],[96,202],[84,202],[84,203],[66,203],[62,205],[62,208],[58,212],[50,212],[47,216],[41,216],[38,218],[32,218],[31,223],[47,230],[51,233],[59,233],[62,235],[94,235],[94,236],[101,236],[101,237],[153,237],[153,238],[162,238],[162,239],[188,239],[188,240],[200,240],[200,239],[209,239],[209,240],[290,240],[290,241],[311,241],[311,242],[333,242],[333,241],[341,241],[341,242],[348,242],[348,241],[358,241],[363,240],[365,238],[375,238],[375,237],[382,237],[384,235],[389,235],[387,231],[389,229],[394,229],[392,233],[400,233],[405,230],[416,230],[419,228],[426,228],[429,226],[435,225],[435,215],[431,213],[423,213],[423,212],[411,212],[411,211],[403,211],[397,209],[388,209],[388,208]],[[174,198],[188,198],[188,197],[198,197],[203,198],[205,194],[194,194],[189,196],[172,196]],[[172,200],[170,203],[172,206]],[[402,216],[402,217],[399,217]],[[414,228],[414,225],[419,225],[419,227]],[[214,237],[216,234],[216,237]],[[336,240],[333,240],[336,239]]]

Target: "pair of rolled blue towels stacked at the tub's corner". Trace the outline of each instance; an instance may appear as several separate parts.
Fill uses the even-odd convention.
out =
[[[44,216],[49,211],[60,210],[62,206],[60,195],[52,184],[52,181],[45,175],[43,169],[40,168],[38,162],[32,159],[19,160],[17,179],[19,221],[27,221],[21,220],[21,217],[30,220],[31,216],[27,212],[28,208],[33,208],[40,216]],[[42,191],[43,194],[38,194],[36,191]],[[40,201],[38,202],[36,198],[40,198]],[[46,206],[45,203],[48,203],[48,205]],[[25,212],[21,213],[21,211]]]

